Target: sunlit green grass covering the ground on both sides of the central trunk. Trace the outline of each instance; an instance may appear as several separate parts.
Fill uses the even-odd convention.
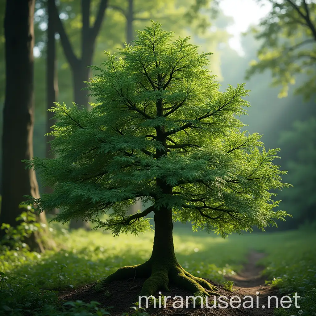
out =
[[[54,239],[61,247],[58,251],[46,251],[44,254],[25,249],[0,251],[0,314],[5,311],[22,315],[21,310],[27,309],[34,315],[42,315],[46,306],[46,309],[51,309],[50,312],[45,311],[46,315],[57,315],[54,291],[102,280],[121,266],[144,262],[152,250],[153,233],[139,237],[113,237],[100,231],[77,230],[70,233],[58,224],[52,227]],[[303,296],[299,301],[302,312],[280,310],[276,311],[276,315],[315,313],[316,245],[312,240],[316,240],[316,232],[307,234],[299,230],[236,234],[227,239],[204,232],[192,233],[178,225],[174,231],[179,263],[193,275],[217,283],[223,283],[225,275],[238,272],[250,250],[265,252],[267,256],[261,263],[266,267],[265,273],[271,286],[280,289],[284,295],[298,292]],[[58,315],[72,315],[72,311],[74,315],[82,309],[93,309],[95,315],[107,313],[91,306],[94,303],[78,304]],[[17,309],[15,312],[14,308]]]

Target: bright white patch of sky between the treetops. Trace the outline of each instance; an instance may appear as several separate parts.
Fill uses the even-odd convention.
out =
[[[246,32],[250,25],[257,25],[270,12],[272,5],[267,0],[260,3],[256,0],[221,0],[220,8],[224,15],[234,18],[234,24],[227,27],[228,33],[233,35],[228,44],[240,56],[244,56],[241,33]]]

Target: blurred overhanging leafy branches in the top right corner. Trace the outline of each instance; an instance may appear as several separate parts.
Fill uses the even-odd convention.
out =
[[[258,0],[261,1],[261,0]],[[316,2],[307,0],[269,0],[272,11],[254,29],[262,40],[259,61],[252,61],[246,78],[266,69],[272,71],[273,86],[282,85],[279,97],[286,97],[289,84],[299,74],[307,81],[295,93],[310,99],[316,91]]]

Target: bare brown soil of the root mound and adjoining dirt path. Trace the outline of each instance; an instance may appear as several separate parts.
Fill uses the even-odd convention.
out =
[[[258,261],[264,257],[264,253],[251,251],[248,255],[248,261],[243,266],[243,269],[240,273],[235,276],[227,277],[227,280],[234,282],[234,288],[231,290],[225,290],[223,286],[216,284],[218,287],[218,293],[222,296],[226,296],[228,298],[227,302],[229,302],[230,298],[234,295],[239,296],[241,300],[241,307],[232,308],[228,306],[227,308],[219,308],[217,305],[216,308],[201,308],[199,304],[196,304],[196,308],[193,307],[193,303],[189,302],[188,307],[185,308],[185,297],[192,295],[188,291],[170,287],[170,292],[164,292],[163,295],[170,295],[172,297],[176,295],[180,295],[184,298],[184,308],[174,308],[173,302],[178,301],[169,299],[167,300],[166,308],[163,307],[163,303],[161,304],[161,308],[158,308],[158,299],[156,300],[156,308],[153,305],[149,305],[146,309],[149,315],[155,316],[164,316],[164,315],[190,315],[190,316],[200,316],[200,315],[220,315],[220,316],[230,316],[230,315],[273,315],[274,308],[276,306],[275,299],[271,299],[270,308],[268,307],[268,296],[270,295],[278,295],[278,291],[276,289],[271,289],[269,285],[265,285],[265,278],[262,276],[262,271],[264,270],[264,266],[258,265]],[[210,283],[212,281],[208,280]],[[90,301],[98,301],[101,306],[109,307],[112,306],[111,315],[119,316],[124,312],[128,312],[131,306],[131,303],[136,301],[137,295],[140,292],[144,279],[129,279],[125,281],[118,281],[107,284],[106,287],[102,289],[97,288],[97,283],[93,283],[82,288],[71,291],[70,293],[61,294],[60,300],[63,301],[76,301],[81,300],[84,302]],[[158,297],[158,293],[156,293],[155,297]],[[253,298],[253,308],[244,308],[242,306],[244,296],[251,296]],[[258,308],[257,307],[257,296],[258,296]],[[234,301],[237,298],[234,299]],[[208,305],[212,306],[213,295],[211,294],[210,299],[208,300]],[[216,301],[218,302],[218,297],[216,297]],[[245,299],[244,301],[250,301],[250,297]],[[162,299],[163,302],[163,299]],[[224,306],[224,302],[219,302],[222,306]],[[145,304],[145,301],[144,303]],[[238,303],[233,304],[237,306]],[[179,306],[176,304],[176,306]],[[249,306],[249,304],[246,304]]]

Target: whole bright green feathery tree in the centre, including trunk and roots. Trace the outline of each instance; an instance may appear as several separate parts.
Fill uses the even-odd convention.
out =
[[[173,221],[222,236],[256,225],[264,229],[283,219],[274,211],[271,189],[281,182],[272,161],[278,149],[265,151],[260,135],[241,132],[238,116],[246,113],[244,85],[219,92],[210,74],[208,55],[190,39],[172,41],[172,33],[153,23],[138,31],[134,46],[110,55],[89,83],[97,102],[92,109],[57,105],[52,135],[55,159],[33,158],[52,194],[30,198],[38,210],[62,208],[56,220],[81,218],[114,235],[150,229],[154,214],[152,255],[123,267],[105,282],[146,277],[142,295],[169,283],[197,292],[212,289],[177,262]],[[261,151],[259,150],[261,148]],[[126,215],[140,198],[151,206]],[[110,217],[100,220],[99,214]]]

